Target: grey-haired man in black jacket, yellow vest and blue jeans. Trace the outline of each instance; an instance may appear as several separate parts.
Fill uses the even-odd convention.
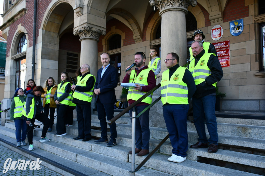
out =
[[[210,147],[209,153],[215,153],[218,150],[218,133],[215,116],[215,92],[216,82],[223,77],[223,70],[218,58],[214,53],[205,53],[201,41],[193,41],[191,44],[193,59],[189,64],[196,84],[196,92],[192,98],[194,125],[198,133],[198,142],[191,145],[191,148],[207,148],[207,142]],[[210,135],[207,140],[204,125],[204,113],[206,117],[206,126]]]

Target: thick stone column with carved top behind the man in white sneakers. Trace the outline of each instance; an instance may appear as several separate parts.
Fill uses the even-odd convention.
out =
[[[188,6],[196,6],[197,0],[150,0],[151,6],[156,6],[161,16],[161,72],[167,70],[164,59],[167,53],[179,55],[179,65],[187,62],[186,20]],[[162,76],[162,75],[161,75]],[[160,76],[158,76],[160,77]]]

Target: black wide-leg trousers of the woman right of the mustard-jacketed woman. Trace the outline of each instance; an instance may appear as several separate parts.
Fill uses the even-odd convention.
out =
[[[67,108],[68,105],[64,104],[57,105],[56,133],[59,135],[66,133],[65,119],[66,119]]]

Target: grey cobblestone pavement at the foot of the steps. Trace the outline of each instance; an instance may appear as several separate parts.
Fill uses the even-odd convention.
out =
[[[28,165],[25,170],[19,170],[17,167],[15,170],[8,170],[6,173],[3,173],[6,169],[4,169],[4,164],[8,158],[11,158],[12,161],[18,161],[18,160],[25,160],[30,161],[31,160],[23,155],[18,154],[17,152],[14,152],[13,150],[8,149],[5,146],[0,145],[0,175],[6,176],[6,175],[22,175],[22,176],[31,176],[31,175],[44,175],[44,176],[56,176],[61,175],[57,172],[54,172],[53,170],[50,170],[40,164],[41,169],[39,170],[30,170],[30,166]],[[6,164],[6,168],[8,167],[8,163]],[[17,165],[17,164],[16,164]]]

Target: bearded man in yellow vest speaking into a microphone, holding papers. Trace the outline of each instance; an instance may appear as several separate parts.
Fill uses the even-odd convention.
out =
[[[145,93],[150,91],[156,86],[156,78],[152,69],[144,65],[145,55],[143,52],[137,52],[134,54],[134,62],[136,63],[135,70],[127,71],[123,78],[123,83],[133,82],[135,83],[135,89],[129,89],[127,100],[129,104],[133,104],[136,100],[141,98]],[[128,66],[126,69],[128,69]],[[143,99],[139,104],[135,106],[136,115],[142,112],[148,105],[152,103],[152,95]],[[129,110],[130,117],[132,116],[133,109]],[[131,119],[132,121],[132,119]],[[136,131],[135,131],[135,153],[137,156],[144,156],[149,153],[149,109],[145,111],[139,118],[136,118]],[[131,154],[131,151],[129,152]]]

